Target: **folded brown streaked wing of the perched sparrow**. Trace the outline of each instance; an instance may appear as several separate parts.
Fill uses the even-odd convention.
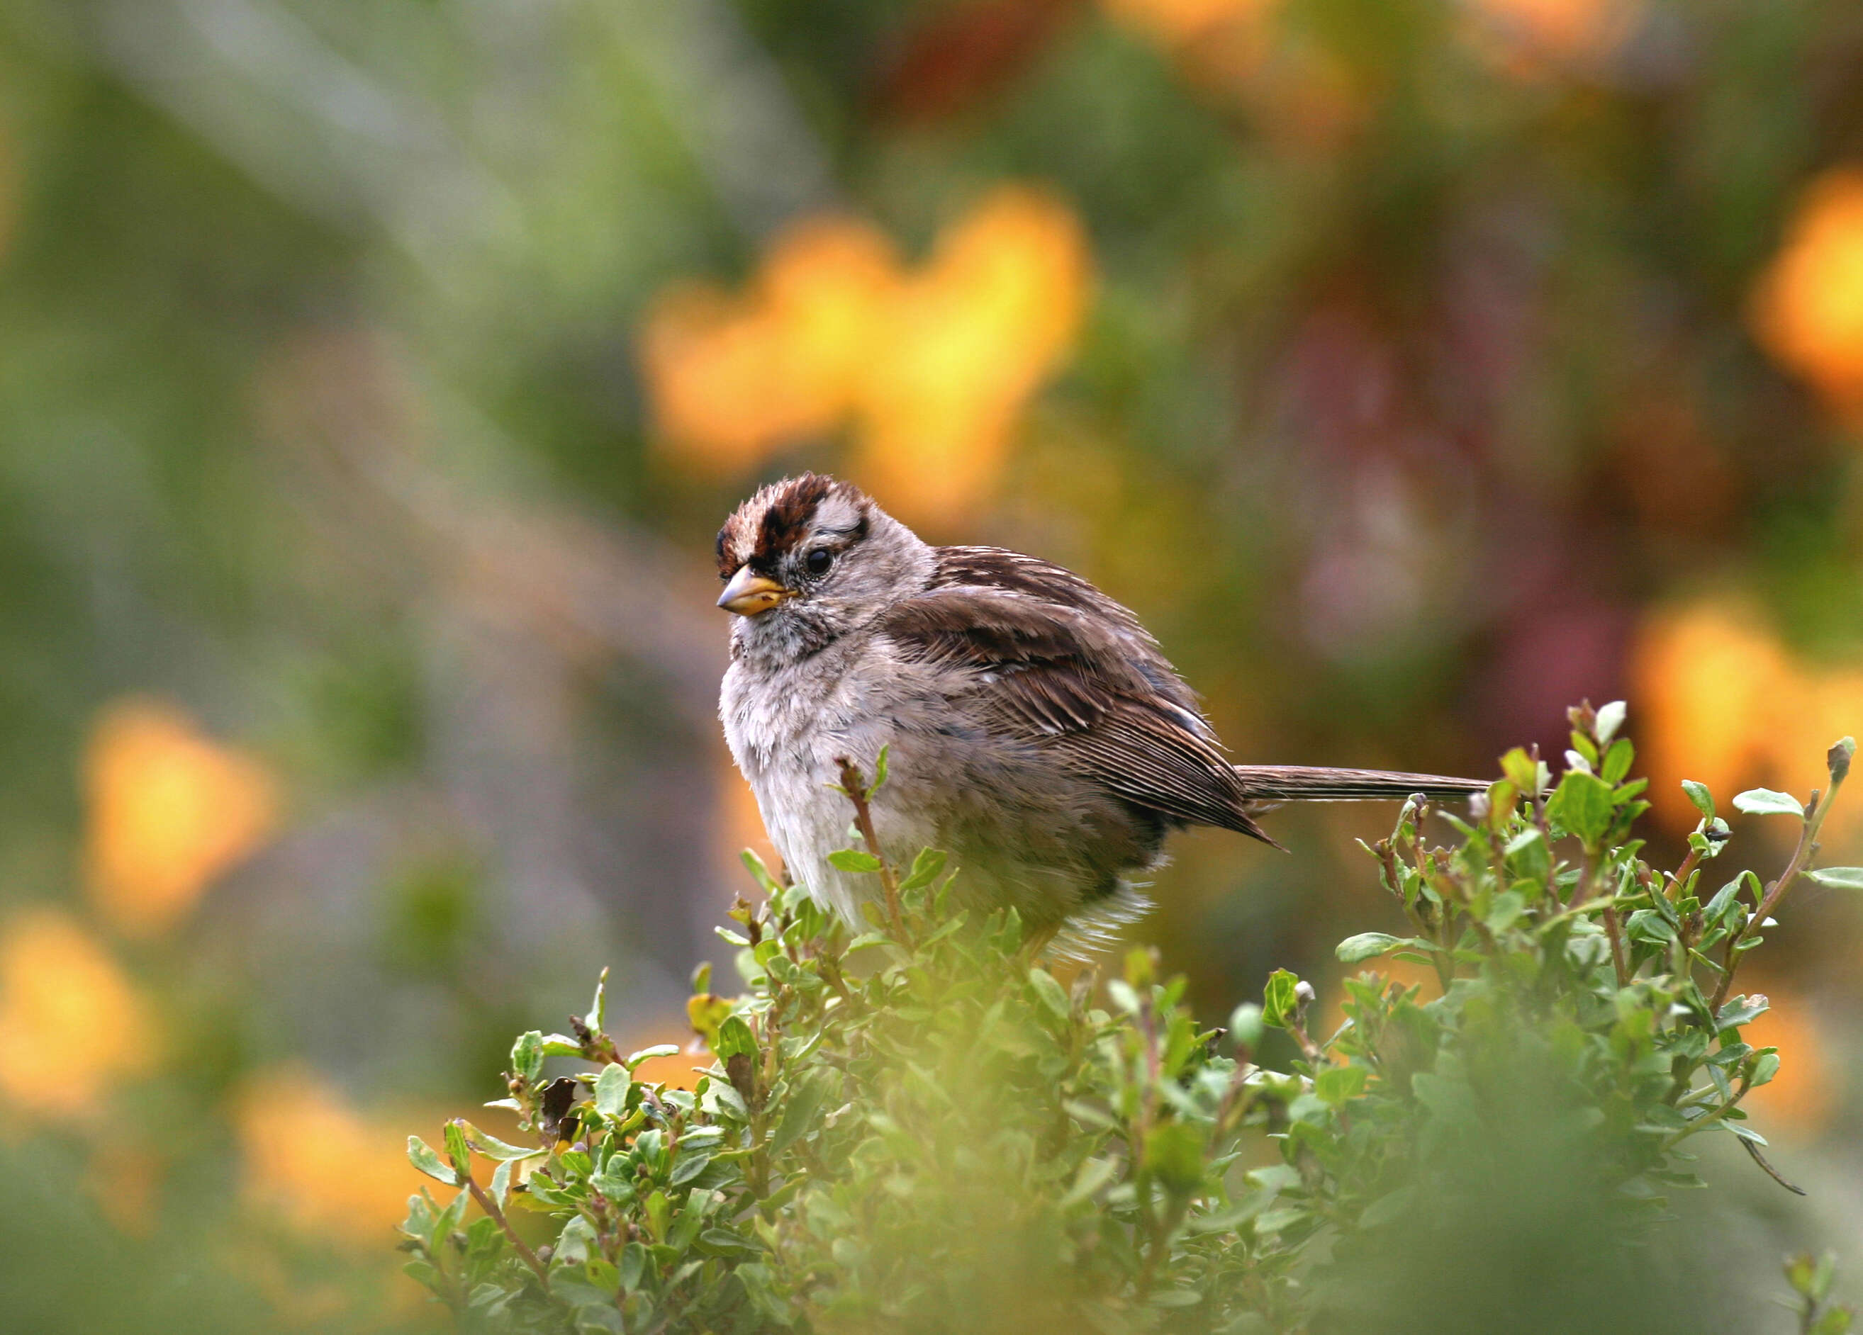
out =
[[[1196,698],[1138,618],[1079,575],[993,547],[943,547],[939,577],[881,629],[971,670],[993,721],[1170,821],[1267,838]]]

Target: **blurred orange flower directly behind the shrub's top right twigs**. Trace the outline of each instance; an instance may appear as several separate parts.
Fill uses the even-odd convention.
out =
[[[1693,827],[1684,778],[1731,797],[1766,784],[1803,797],[1828,788],[1824,752],[1863,730],[1863,670],[1818,668],[1787,654],[1759,616],[1721,603],[1660,611],[1630,652],[1632,726],[1656,816]],[[1833,832],[1863,821],[1863,801],[1831,812]]]

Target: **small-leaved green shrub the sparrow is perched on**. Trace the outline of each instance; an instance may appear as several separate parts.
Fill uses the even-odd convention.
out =
[[[1440,994],[1360,974],[1330,1035],[1285,970],[1222,1030],[1146,951],[1103,992],[1064,985],[1013,914],[952,909],[937,853],[904,877],[838,855],[879,883],[861,933],[747,858],[764,899],[721,931],[747,992],[704,966],[689,1005],[715,1065],[693,1091],[635,1080],[665,1048],[619,1054],[600,989],[574,1033],[525,1033],[499,1102],[535,1143],[410,1139],[455,1193],[410,1203],[408,1272],[473,1329],[1686,1328],[1686,1275],[1641,1240],[1699,1184],[1705,1132],[1766,1166],[1742,1099],[1779,1054],[1742,1041],[1766,998],[1734,979],[1798,881],[1863,886],[1811,870],[1854,745],[1803,806],[1736,797],[1798,845],[1770,884],[1712,886],[1707,789],[1658,871],[1623,706],[1572,724],[1557,784],[1509,752],[1470,819],[1410,802],[1369,847],[1412,935],[1339,959],[1420,961]],[[1844,1329],[1803,1268],[1805,1329]]]

